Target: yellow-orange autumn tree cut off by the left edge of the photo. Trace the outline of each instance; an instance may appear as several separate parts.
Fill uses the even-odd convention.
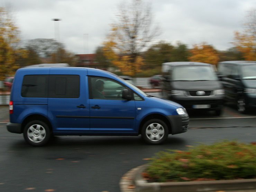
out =
[[[27,52],[19,47],[19,30],[10,12],[0,7],[0,80],[5,75],[13,75],[19,68],[18,58],[26,57]]]

